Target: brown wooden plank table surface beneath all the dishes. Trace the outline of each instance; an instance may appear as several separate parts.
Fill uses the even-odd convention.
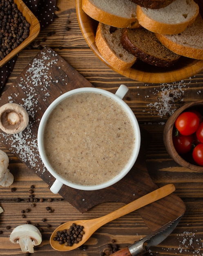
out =
[[[185,103],[203,98],[203,72],[184,81],[167,84],[141,83],[127,79],[107,67],[89,49],[78,25],[75,1],[58,0],[57,7],[54,22],[40,32],[32,47],[20,52],[4,90],[11,86],[38,54],[39,46],[46,45],[98,88],[115,92],[121,83],[127,85],[129,92],[125,101],[134,111],[141,128],[152,135],[146,156],[149,175],[158,186],[173,183],[176,186],[174,194],[180,197],[186,206],[185,214],[172,234],[157,247],[152,247],[146,255],[203,255],[203,172],[195,172],[176,164],[167,154],[163,144],[164,124],[171,113]],[[176,97],[171,105],[168,105],[169,92]],[[9,169],[15,179],[10,187],[0,187],[0,206],[4,209],[0,214],[0,255],[25,255],[19,245],[13,245],[9,241],[9,235],[13,228],[27,221],[38,224],[42,229],[43,240],[40,246],[35,247],[36,256],[105,255],[105,249],[115,246],[122,249],[149,233],[141,216],[134,211],[98,229],[85,247],[71,252],[55,251],[49,244],[49,237],[60,223],[97,218],[124,204],[105,202],[80,213],[59,194],[51,193],[47,183],[7,150],[3,143],[0,144],[0,149],[8,154]],[[34,186],[33,195],[34,199],[37,199],[34,205],[27,200],[30,198],[31,186]],[[50,213],[46,207],[53,211]],[[25,218],[22,218],[21,211],[26,209],[30,211],[24,213]],[[45,222],[42,221],[43,218],[46,218]]]

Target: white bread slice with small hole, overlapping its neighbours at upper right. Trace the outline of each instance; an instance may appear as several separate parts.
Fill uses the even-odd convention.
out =
[[[137,19],[145,29],[159,34],[178,34],[190,26],[199,13],[194,0],[175,0],[161,9],[137,6]]]

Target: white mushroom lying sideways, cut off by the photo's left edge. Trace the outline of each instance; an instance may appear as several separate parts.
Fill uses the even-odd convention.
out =
[[[13,183],[14,177],[10,173],[9,169],[9,157],[7,154],[0,150],[0,185],[1,186],[10,186]]]

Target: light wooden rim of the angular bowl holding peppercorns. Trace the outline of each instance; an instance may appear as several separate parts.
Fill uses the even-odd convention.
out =
[[[29,22],[30,24],[29,36],[20,45],[18,45],[18,47],[13,49],[9,54],[7,54],[7,56],[5,56],[0,61],[0,67],[2,67],[8,61],[10,61],[11,58],[13,58],[22,49],[24,49],[27,45],[29,45],[38,36],[40,32],[40,23],[38,19],[33,15],[33,13],[25,5],[25,3],[22,0],[13,0],[13,2],[17,4],[18,10],[22,12],[22,15],[26,18],[27,22]]]

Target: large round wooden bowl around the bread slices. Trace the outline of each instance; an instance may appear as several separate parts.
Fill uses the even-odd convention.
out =
[[[98,22],[90,18],[82,10],[82,0],[76,0],[76,12],[80,29],[91,50],[107,66],[123,76],[145,83],[170,83],[188,79],[190,76],[194,76],[203,70],[203,60],[195,60],[182,56],[178,60],[178,63],[170,68],[154,67],[141,61],[137,61],[128,70],[116,70],[101,56],[96,47],[95,34]]]

